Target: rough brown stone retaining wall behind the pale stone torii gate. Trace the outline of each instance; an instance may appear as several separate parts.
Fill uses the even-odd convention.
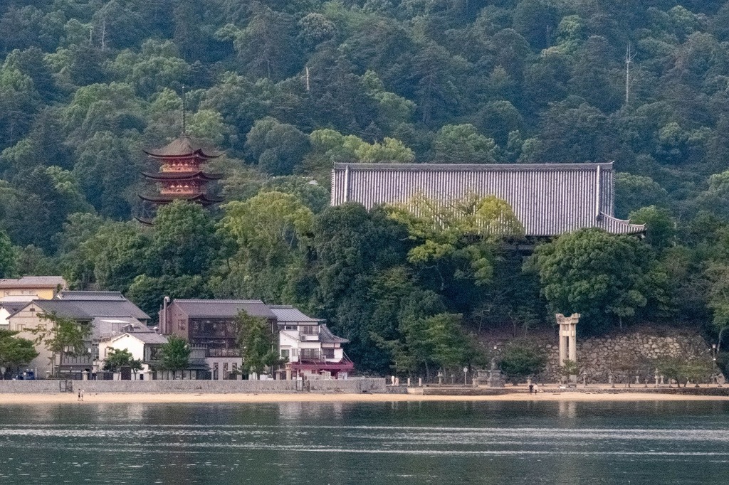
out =
[[[560,374],[559,344],[545,344],[549,355],[547,382],[558,382]],[[613,374],[615,382],[630,379],[635,382],[636,371],[643,383],[648,379],[655,382],[655,360],[666,357],[699,358],[711,363],[711,348],[697,334],[674,334],[655,336],[641,332],[599,338],[577,338],[577,365],[580,374],[587,372],[588,382],[608,382]],[[628,375],[629,374],[629,375]],[[582,382],[582,376],[577,379]]]

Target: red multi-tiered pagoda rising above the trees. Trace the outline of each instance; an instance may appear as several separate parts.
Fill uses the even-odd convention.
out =
[[[139,194],[142,200],[155,205],[165,205],[173,200],[189,200],[202,205],[222,202],[222,199],[207,194],[206,184],[220,176],[206,173],[203,165],[220,156],[214,151],[205,151],[202,146],[182,133],[179,138],[163,148],[144,153],[160,162],[157,173],[143,172],[144,178],[157,182],[159,194]]]

